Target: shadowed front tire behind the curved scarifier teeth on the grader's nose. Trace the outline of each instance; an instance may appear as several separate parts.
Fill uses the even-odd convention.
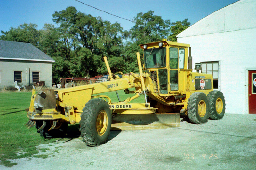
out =
[[[43,121],[36,121],[36,129],[39,129],[43,125]],[[40,133],[40,136],[44,138],[55,138],[55,137],[63,137],[66,135],[68,123],[67,122],[58,122],[57,128],[49,130],[52,127],[52,121],[46,121],[46,125],[43,129],[37,130],[37,133]]]

